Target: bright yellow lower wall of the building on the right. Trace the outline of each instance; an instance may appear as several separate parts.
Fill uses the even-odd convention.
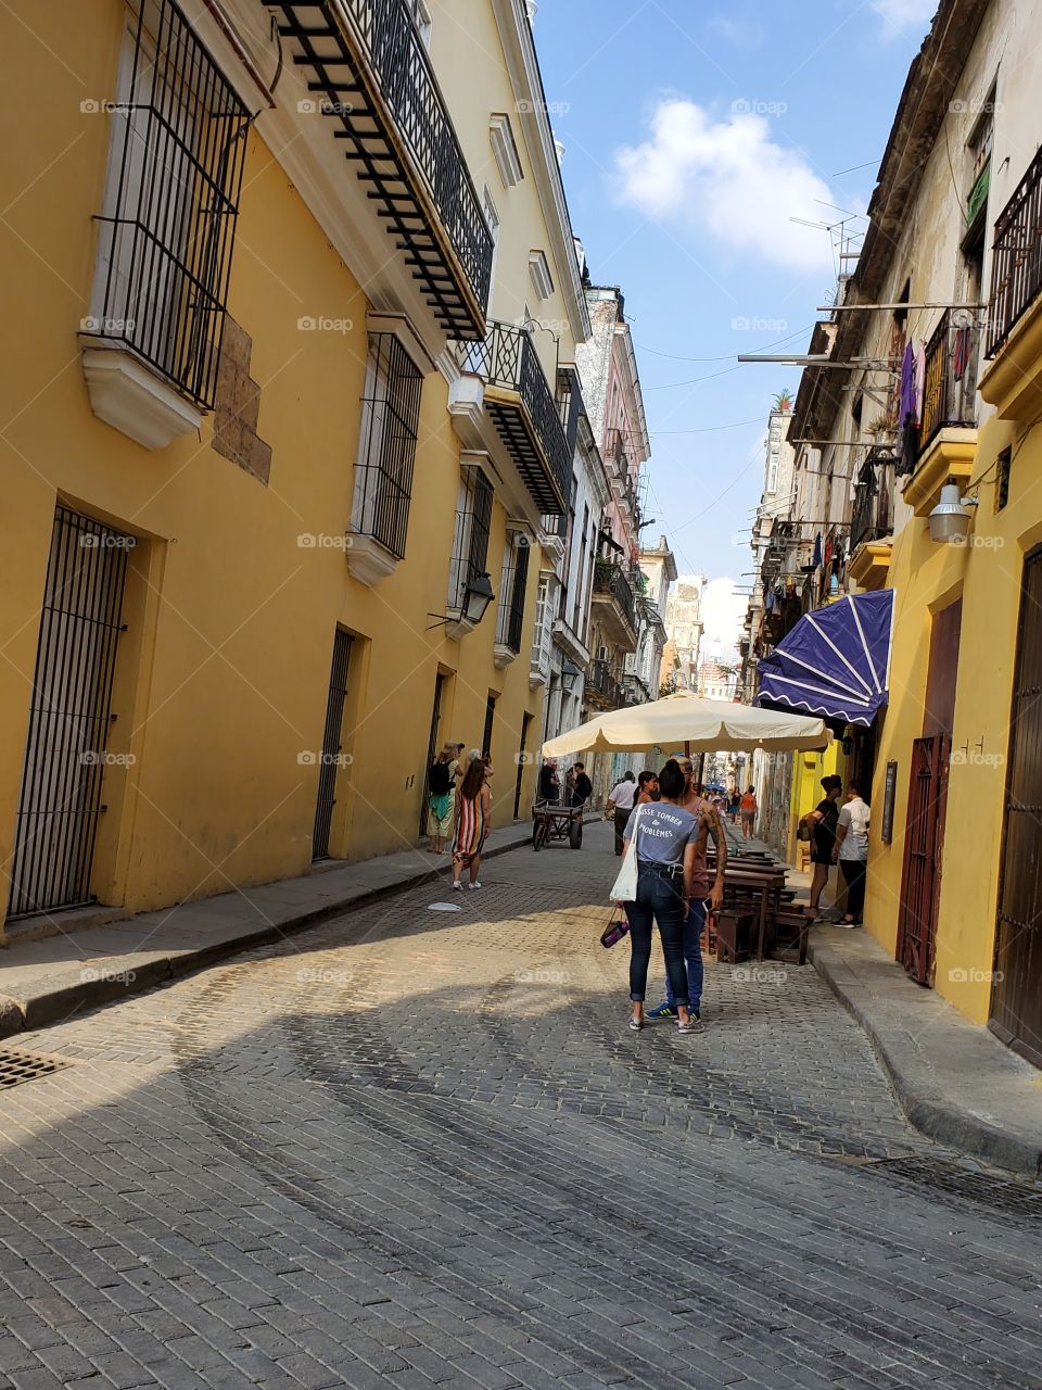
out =
[[[934,613],[961,596],[961,634],[952,749],[967,749],[949,771],[948,813],[936,930],[935,988],[977,1023],[988,1019],[1003,826],[1009,714],[1024,553],[1042,539],[1042,495],[1029,480],[1042,467],[1042,439],[1017,450],[1010,505],[995,512],[999,452],[1013,439],[1004,421],[981,430],[974,480],[979,506],[967,546],[929,539],[913,517],[895,538],[889,582],[895,589],[891,701],[875,762],[866,926],[892,955],[909,806],[911,741],[923,734]],[[982,741],[982,742],[981,742]],[[898,762],[893,841],[882,844],[886,763]]]

